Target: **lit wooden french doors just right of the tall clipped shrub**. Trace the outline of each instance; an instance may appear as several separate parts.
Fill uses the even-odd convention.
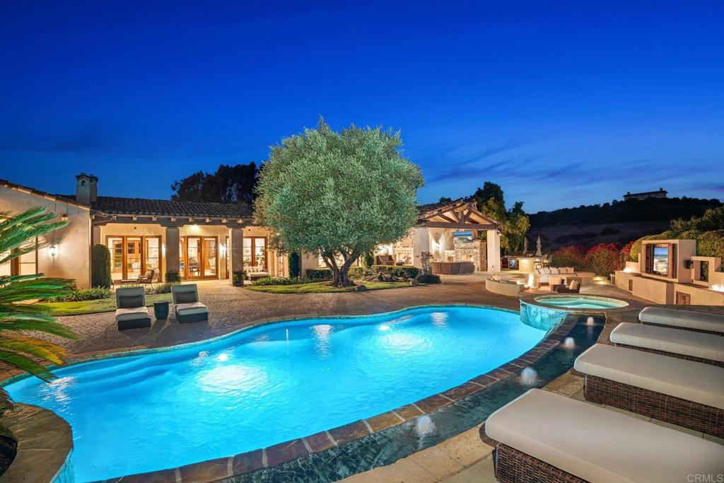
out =
[[[111,251],[111,278],[137,280],[153,270],[153,280],[161,280],[160,236],[106,236]]]

